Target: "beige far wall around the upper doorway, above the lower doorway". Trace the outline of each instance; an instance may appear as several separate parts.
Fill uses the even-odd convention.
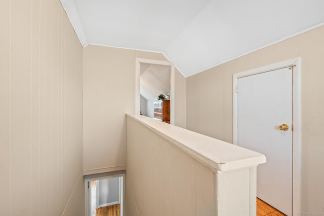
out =
[[[84,170],[125,169],[126,117],[135,112],[135,59],[167,59],[159,53],[103,46],[84,49]],[[180,83],[177,86],[177,83]],[[176,72],[176,124],[185,126],[185,78]],[[177,93],[179,92],[179,94]]]

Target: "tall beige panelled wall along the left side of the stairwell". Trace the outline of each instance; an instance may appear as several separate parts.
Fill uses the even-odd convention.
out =
[[[83,212],[82,46],[59,0],[3,0],[0,26],[0,214]]]

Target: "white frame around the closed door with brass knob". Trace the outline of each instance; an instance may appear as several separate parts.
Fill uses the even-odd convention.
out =
[[[237,146],[237,79],[293,66],[293,215],[300,212],[301,201],[301,103],[300,103],[300,58],[233,74],[233,144]],[[238,87],[239,88],[239,87]]]

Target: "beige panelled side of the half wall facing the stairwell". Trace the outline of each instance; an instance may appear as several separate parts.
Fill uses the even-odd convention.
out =
[[[127,117],[127,215],[215,215],[215,170],[154,130]]]

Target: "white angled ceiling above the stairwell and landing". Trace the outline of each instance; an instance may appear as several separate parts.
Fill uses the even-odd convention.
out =
[[[61,0],[83,46],[163,53],[185,77],[324,24],[323,0]]]

